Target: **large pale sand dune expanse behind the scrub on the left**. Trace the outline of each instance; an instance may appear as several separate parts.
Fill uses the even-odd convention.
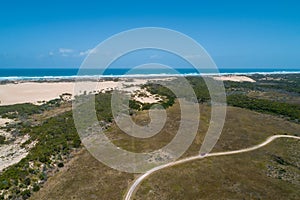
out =
[[[152,79],[161,80],[161,79]],[[167,80],[164,79],[164,80]],[[101,81],[101,82],[80,82],[82,93],[101,92],[112,89],[124,90],[130,93],[140,89],[147,79],[122,79],[119,81]],[[17,103],[39,104],[42,101],[49,101],[63,93],[69,93],[74,96],[75,82],[19,82],[0,85],[0,105],[12,105]],[[138,100],[138,99],[137,99]],[[155,102],[154,98],[148,98],[148,103]],[[141,100],[145,101],[145,99]]]

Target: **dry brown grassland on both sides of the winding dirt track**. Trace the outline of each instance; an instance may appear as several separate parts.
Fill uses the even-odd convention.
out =
[[[201,126],[194,143],[183,156],[196,155],[208,127],[210,108],[200,105]],[[134,120],[139,124],[149,120],[145,111]],[[130,151],[149,152],[167,144],[176,134],[180,122],[178,104],[168,109],[168,119],[163,131],[149,139],[133,139],[116,127],[107,135],[113,142]],[[299,134],[300,125],[274,116],[260,114],[240,108],[228,108],[223,133],[213,151],[245,148],[257,144],[274,134]],[[288,144],[288,145],[286,145]],[[299,164],[299,145],[293,141],[279,141],[255,152],[211,158],[190,162],[162,170],[142,184],[137,199],[258,199],[272,197],[274,192],[289,197],[297,195],[292,184],[266,177],[266,163],[270,155],[295,151]],[[281,148],[276,148],[280,145]],[[285,155],[285,159],[292,159]],[[299,171],[295,171],[299,174]],[[50,178],[44,187],[31,199],[121,199],[134,179],[133,174],[110,169],[94,159],[86,150],[65,169]],[[299,185],[297,185],[298,190]],[[298,193],[299,195],[299,193]],[[279,197],[279,196],[278,196]],[[278,199],[278,198],[277,198]]]

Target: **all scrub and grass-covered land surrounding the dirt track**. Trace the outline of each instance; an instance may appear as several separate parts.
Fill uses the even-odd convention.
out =
[[[299,136],[300,109],[295,101],[299,98],[297,75],[281,78],[252,75],[251,78],[256,82],[224,82],[229,106],[214,152],[246,148],[274,134]],[[211,111],[209,92],[203,79],[188,77],[187,80],[197,95],[201,118],[198,134],[182,157],[198,154]],[[290,89],[292,85],[294,89]],[[158,84],[144,84],[142,88],[158,95],[158,104],[167,109],[163,130],[148,139],[132,138],[116,126],[110,109],[110,92],[96,95],[97,117],[105,126],[104,134],[115,145],[134,152],[149,152],[168,144],[180,124],[180,105],[170,90]],[[277,98],[269,93],[285,94],[287,98],[280,95]],[[139,125],[149,123],[148,109],[153,104],[132,99],[129,106],[133,121]],[[25,158],[1,172],[3,199],[121,199],[137,176],[113,170],[89,154],[76,132],[70,101],[56,99],[41,105],[0,106],[0,115],[15,121],[3,129],[13,131],[16,136],[30,136],[24,146],[36,142]],[[3,142],[7,142],[5,138]],[[245,193],[247,199],[276,197],[276,192],[290,192],[289,197],[293,199],[299,196],[296,189],[300,188],[294,179],[299,176],[297,145],[299,147],[297,141],[280,139],[255,152],[193,161],[162,170],[146,180],[135,197],[214,199],[216,196],[213,195],[217,194],[224,198],[240,198]],[[202,176],[205,177],[201,179]],[[209,184],[205,185],[205,182]],[[273,193],[263,193],[266,192],[263,184],[270,184],[269,191]],[[214,194],[209,193],[215,190]]]

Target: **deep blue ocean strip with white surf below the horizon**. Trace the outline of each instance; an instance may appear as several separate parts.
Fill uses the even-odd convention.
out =
[[[79,69],[76,68],[0,68],[0,81],[72,81],[77,79],[106,79],[106,78],[163,78],[170,76],[226,76],[254,74],[299,74],[300,69],[283,68],[220,68],[201,69],[201,74],[194,68],[175,69],[132,69],[129,68],[108,68],[108,69]],[[104,70],[104,71],[101,71]]]

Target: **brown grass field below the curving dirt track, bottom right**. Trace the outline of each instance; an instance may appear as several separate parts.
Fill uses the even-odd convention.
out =
[[[164,169],[145,180],[134,199],[299,199],[299,145],[279,139],[253,152]],[[277,163],[274,156],[289,164]]]

